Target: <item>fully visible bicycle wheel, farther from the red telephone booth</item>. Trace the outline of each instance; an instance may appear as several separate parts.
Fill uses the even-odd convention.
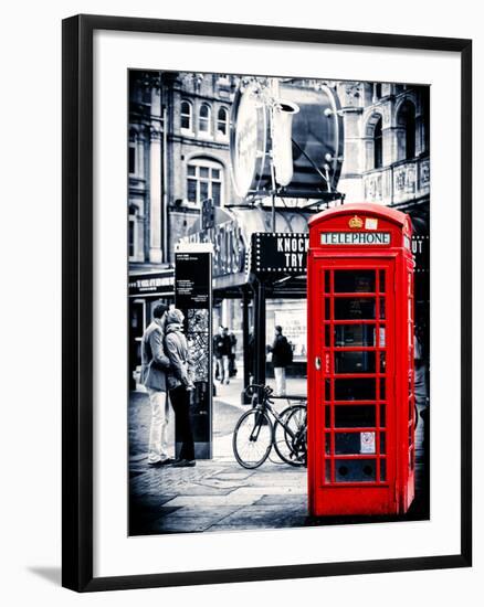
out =
[[[267,459],[272,447],[273,427],[265,412],[250,409],[233,430],[233,455],[244,468],[257,468]]]

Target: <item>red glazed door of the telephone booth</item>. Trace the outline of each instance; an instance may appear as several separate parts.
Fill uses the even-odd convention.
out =
[[[393,386],[393,259],[322,259],[312,268],[322,295],[313,322],[318,340],[315,427],[324,448],[316,483],[338,488],[325,513],[392,510],[396,482]],[[319,440],[316,440],[317,445]],[[322,452],[323,451],[323,452]],[[365,487],[365,491],[360,491]]]

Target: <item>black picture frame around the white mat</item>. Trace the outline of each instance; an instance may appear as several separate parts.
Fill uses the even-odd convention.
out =
[[[377,561],[93,576],[93,33],[294,41],[421,51],[461,57],[461,551]],[[467,567],[472,563],[472,41],[378,33],[105,15],[63,21],[63,547],[62,584],[76,592]]]

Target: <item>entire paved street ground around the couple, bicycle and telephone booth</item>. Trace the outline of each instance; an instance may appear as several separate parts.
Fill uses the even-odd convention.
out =
[[[304,394],[306,381],[288,380],[287,392]],[[242,468],[232,451],[232,433],[246,405],[241,404],[242,380],[217,383],[213,400],[213,459],[193,468],[150,468],[146,448],[150,407],[146,393],[129,400],[129,534],[190,533],[281,529],[312,524],[348,523],[348,519],[311,520],[307,515],[306,468],[283,464],[274,451],[255,470]],[[277,400],[282,409],[288,401]],[[173,419],[169,445],[173,445]],[[420,426],[421,429],[422,426]],[[418,434],[418,491],[422,484],[421,434]],[[173,457],[173,452],[169,454]],[[417,500],[409,518],[422,518]],[[364,520],[364,519],[362,519]],[[373,519],[375,520],[375,519]],[[388,520],[388,519],[387,519]],[[355,519],[355,522],[359,520]]]

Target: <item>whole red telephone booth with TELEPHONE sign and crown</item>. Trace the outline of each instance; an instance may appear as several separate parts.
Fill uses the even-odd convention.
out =
[[[397,514],[414,496],[410,217],[344,204],[309,221],[313,515]]]

